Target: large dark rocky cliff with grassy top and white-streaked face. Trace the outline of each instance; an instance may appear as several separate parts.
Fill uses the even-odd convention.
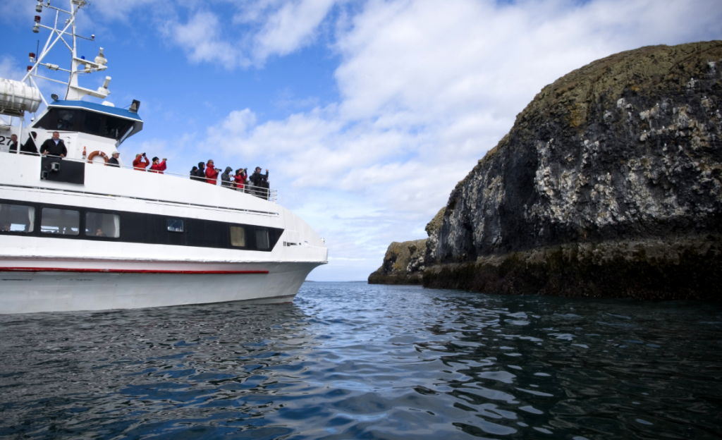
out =
[[[722,298],[722,42],[594,61],[451,192],[424,285]]]

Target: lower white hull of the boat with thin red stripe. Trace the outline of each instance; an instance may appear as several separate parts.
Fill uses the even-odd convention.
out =
[[[199,303],[293,301],[318,263],[59,264],[4,262],[0,314],[142,309]]]

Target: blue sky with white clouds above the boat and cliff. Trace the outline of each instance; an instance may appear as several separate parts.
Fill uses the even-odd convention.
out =
[[[36,4],[0,2],[0,77],[22,79],[48,38],[32,33]],[[121,158],[268,168],[279,204],[329,246],[308,280],[355,281],[392,241],[426,237],[542,87],[620,51],[720,40],[722,1],[92,0],[78,22],[95,35],[79,54],[108,59],[80,85],[108,75],[108,101],[141,101]],[[60,49],[49,62],[66,66]]]

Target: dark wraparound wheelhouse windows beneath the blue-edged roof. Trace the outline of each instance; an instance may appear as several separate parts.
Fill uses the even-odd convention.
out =
[[[78,108],[51,108],[35,127],[46,130],[80,131],[95,136],[121,139],[134,122]]]

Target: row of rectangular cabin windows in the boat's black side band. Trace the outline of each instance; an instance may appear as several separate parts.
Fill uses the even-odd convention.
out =
[[[40,233],[61,236],[77,236],[80,233],[80,212],[42,208]],[[168,219],[166,228],[173,233],[185,232],[183,220]],[[35,227],[35,207],[21,204],[0,204],[0,230],[4,232],[31,233]],[[85,212],[85,236],[120,238],[121,217],[103,212]],[[269,249],[269,231],[256,229],[256,248]],[[231,246],[245,247],[245,228],[230,226]]]

